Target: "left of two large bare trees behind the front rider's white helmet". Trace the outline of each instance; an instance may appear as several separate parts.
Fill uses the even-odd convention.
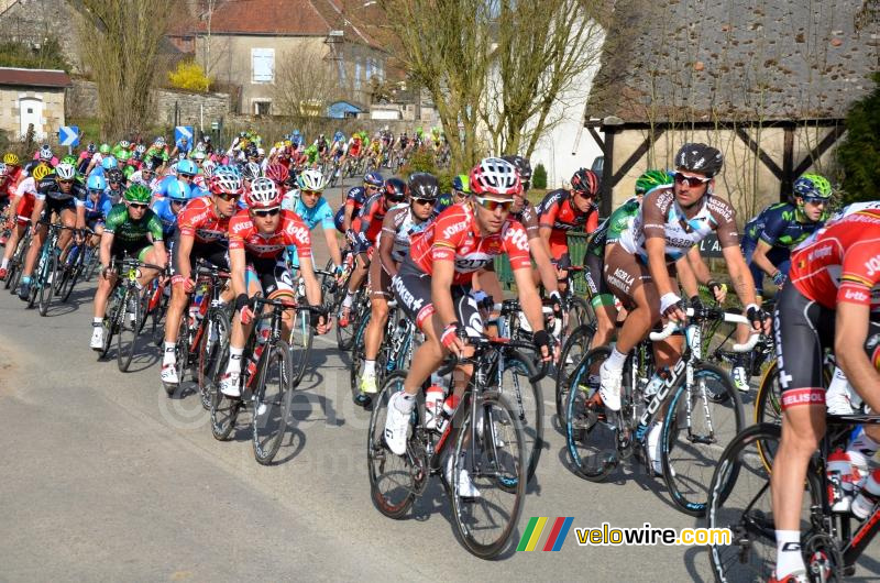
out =
[[[431,96],[449,138],[453,167],[483,154],[477,141],[490,68],[491,0],[378,0],[388,25],[383,44]],[[461,136],[457,140],[455,136]]]

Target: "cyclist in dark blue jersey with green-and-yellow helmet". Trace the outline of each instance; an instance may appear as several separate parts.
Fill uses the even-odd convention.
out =
[[[791,250],[805,241],[827,219],[832,199],[832,185],[817,174],[804,174],[794,180],[794,204],[778,202],[763,209],[746,224],[740,242],[743,255],[755,279],[758,304],[763,295],[765,274],[782,288],[789,273]],[[745,326],[737,330],[737,341],[748,340]],[[748,392],[751,366],[749,355],[740,354],[732,370],[734,384]]]

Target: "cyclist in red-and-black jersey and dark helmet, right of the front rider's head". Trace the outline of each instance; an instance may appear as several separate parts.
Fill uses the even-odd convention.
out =
[[[541,238],[550,250],[561,282],[566,278],[571,265],[569,231],[583,229],[592,233],[598,227],[597,193],[598,177],[593,170],[581,168],[571,177],[570,190],[560,188],[548,193],[538,205]]]

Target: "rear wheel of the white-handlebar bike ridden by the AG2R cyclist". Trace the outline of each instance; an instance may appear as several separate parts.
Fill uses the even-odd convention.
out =
[[[600,386],[600,366],[610,352],[607,346],[601,346],[584,355],[571,375],[565,403],[569,461],[575,474],[591,482],[605,481],[617,466],[619,429],[609,422],[604,407],[594,399]]]

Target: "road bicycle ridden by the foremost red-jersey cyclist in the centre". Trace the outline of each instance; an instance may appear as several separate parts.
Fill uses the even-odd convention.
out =
[[[457,364],[473,364],[474,373],[459,406],[451,418],[440,421],[439,430],[431,429],[426,425],[420,392],[404,455],[395,455],[387,448],[384,431],[389,399],[403,391],[406,372],[388,375],[370,418],[367,469],[376,509],[391,518],[403,518],[427,490],[429,477],[443,476],[446,457],[451,455],[451,484],[446,476],[443,484],[452,499],[457,534],[468,551],[491,559],[510,542],[526,493],[522,425],[499,389],[495,371],[505,348],[525,348],[525,343],[487,338],[471,338],[469,342],[474,348],[472,358],[452,359],[438,372],[448,375]],[[463,471],[479,497],[462,492]]]

